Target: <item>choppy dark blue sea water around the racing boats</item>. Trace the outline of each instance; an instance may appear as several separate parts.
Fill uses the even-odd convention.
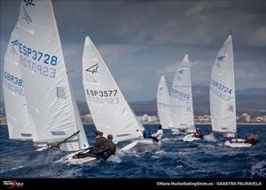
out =
[[[150,130],[156,125],[145,125]],[[56,162],[66,153],[59,150],[35,151],[30,142],[8,139],[6,126],[0,126],[1,178],[265,178],[266,125],[238,125],[239,138],[253,129],[260,142],[247,148],[223,146],[223,137],[200,125],[205,139],[183,142],[182,135],[164,130],[161,151],[122,154],[96,164]],[[90,145],[94,143],[92,124],[84,125]]]

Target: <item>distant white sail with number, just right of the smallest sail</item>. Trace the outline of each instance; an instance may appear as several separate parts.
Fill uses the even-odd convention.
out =
[[[191,71],[187,54],[176,70],[169,110],[171,129],[194,130]]]

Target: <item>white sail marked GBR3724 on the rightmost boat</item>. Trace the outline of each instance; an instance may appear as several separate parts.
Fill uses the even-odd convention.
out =
[[[219,51],[210,82],[212,130],[236,132],[236,102],[231,35]]]

